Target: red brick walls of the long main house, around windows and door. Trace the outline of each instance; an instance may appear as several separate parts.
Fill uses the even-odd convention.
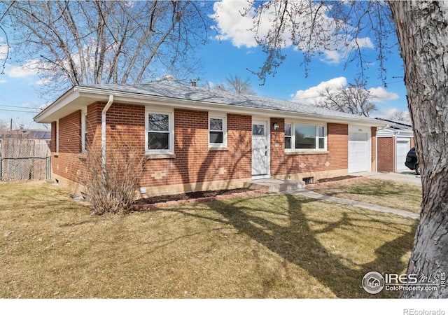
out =
[[[104,102],[87,106],[87,147],[101,147],[101,114]],[[59,120],[59,156],[53,160],[53,172],[71,181],[79,181],[85,172],[85,160],[80,155],[80,111]],[[279,130],[271,130],[271,175],[286,176],[309,172],[326,172],[348,168],[348,125],[328,123],[328,152],[286,154],[284,120]],[[141,186],[154,186],[228,181],[251,178],[252,118],[228,114],[228,148],[209,149],[207,111],[174,110],[174,154],[172,158],[147,157]],[[55,123],[52,123],[55,130]],[[374,132],[374,130],[372,130]],[[374,135],[374,133],[372,133]],[[106,114],[107,154],[112,156],[116,144],[127,144],[145,156],[145,107],[113,104]],[[55,139],[52,139],[55,152]],[[374,137],[372,157],[374,157]]]

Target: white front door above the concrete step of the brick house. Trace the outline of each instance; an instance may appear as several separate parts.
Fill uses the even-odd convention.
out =
[[[269,141],[265,120],[252,120],[252,178],[267,179],[269,174]]]

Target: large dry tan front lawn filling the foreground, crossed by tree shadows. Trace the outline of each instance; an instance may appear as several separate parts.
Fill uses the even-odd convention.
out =
[[[0,183],[1,298],[398,297],[416,221],[262,194],[90,216],[44,182]]]

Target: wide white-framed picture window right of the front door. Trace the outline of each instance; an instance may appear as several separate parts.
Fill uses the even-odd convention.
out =
[[[325,151],[327,148],[325,125],[285,123],[286,151]]]

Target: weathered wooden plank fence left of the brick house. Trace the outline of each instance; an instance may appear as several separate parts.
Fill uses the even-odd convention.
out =
[[[50,179],[50,147],[42,139],[0,140],[0,181]]]

